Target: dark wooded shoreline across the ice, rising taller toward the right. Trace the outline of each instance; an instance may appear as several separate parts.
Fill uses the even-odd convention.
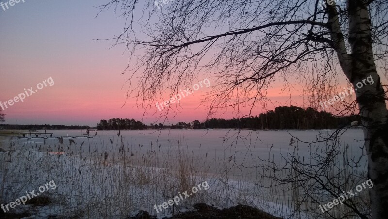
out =
[[[303,109],[297,106],[280,106],[275,110],[261,113],[259,116],[246,118],[211,118],[203,122],[178,122],[163,125],[143,124],[128,118],[111,118],[101,120],[97,124],[98,130],[125,129],[336,129],[350,126],[353,121],[360,121],[358,115],[337,117],[326,111],[318,112],[309,107]]]

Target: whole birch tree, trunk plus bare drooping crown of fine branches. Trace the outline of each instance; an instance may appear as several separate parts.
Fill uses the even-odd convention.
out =
[[[115,45],[129,52],[128,95],[144,110],[203,72],[216,82],[204,100],[209,115],[265,106],[275,79],[285,90],[296,80],[316,107],[338,92],[345,76],[364,127],[372,217],[382,219],[388,215],[388,122],[378,71],[386,74],[388,2],[343,1],[322,7],[320,0],[111,0],[101,9],[127,20]],[[357,89],[367,77],[374,83]]]

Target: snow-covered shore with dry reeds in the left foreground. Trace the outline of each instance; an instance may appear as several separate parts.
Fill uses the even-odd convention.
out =
[[[4,204],[14,202],[26,192],[37,191],[40,185],[49,181],[55,182],[55,189],[49,188],[41,194],[53,198],[53,204],[34,208],[29,205],[16,206],[13,210],[14,213],[27,211],[32,214],[32,218],[53,215],[123,218],[136,215],[139,210],[146,210],[158,218],[171,217],[169,209],[156,213],[154,205],[171,199],[171,185],[179,185],[178,182],[182,180],[168,168],[101,164],[96,160],[32,149],[1,152],[0,156],[1,162],[6,164],[0,172],[0,183],[5,190]],[[178,203],[180,212],[193,210],[191,206],[199,202],[219,208],[245,203],[256,205],[276,216],[281,216],[279,213],[282,211],[287,212],[286,206],[278,211],[278,205],[258,199],[258,191],[252,194],[257,189],[253,183],[197,176],[186,178],[188,182],[193,182],[186,183],[190,184],[188,189],[204,181],[208,183],[209,189],[181,200]],[[175,188],[177,192],[184,191]]]

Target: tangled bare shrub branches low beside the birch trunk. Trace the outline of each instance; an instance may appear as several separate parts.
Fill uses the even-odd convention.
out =
[[[324,143],[323,146],[319,142],[309,143],[307,155],[299,153],[301,140],[292,137],[287,153],[281,153],[280,162],[272,159],[278,154],[270,150],[268,159],[259,158],[261,162],[257,166],[262,168],[261,175],[269,182],[258,185],[269,190],[281,188],[283,193],[290,194],[288,206],[293,218],[303,218],[303,214],[309,219],[371,218],[368,195],[373,187],[371,182],[364,191],[359,192],[358,188],[356,196],[343,195],[344,191],[355,192],[356,186],[369,180],[365,172],[366,156],[354,156],[351,152],[364,150],[364,147],[343,147],[339,137],[345,132],[346,129],[339,129],[329,136],[322,136],[319,141]],[[327,203],[338,197],[344,201],[327,207]]]

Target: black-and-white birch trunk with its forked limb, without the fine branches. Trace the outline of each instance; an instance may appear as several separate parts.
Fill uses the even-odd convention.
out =
[[[368,154],[368,177],[372,179],[374,185],[369,191],[372,218],[386,219],[388,217],[387,107],[384,90],[374,63],[368,3],[365,0],[348,0],[348,41],[351,46],[351,55],[346,53],[335,7],[328,10],[332,38],[339,57],[339,63],[345,75],[353,84],[360,109],[366,152]],[[364,82],[367,77],[372,78],[373,83],[365,85]]]

